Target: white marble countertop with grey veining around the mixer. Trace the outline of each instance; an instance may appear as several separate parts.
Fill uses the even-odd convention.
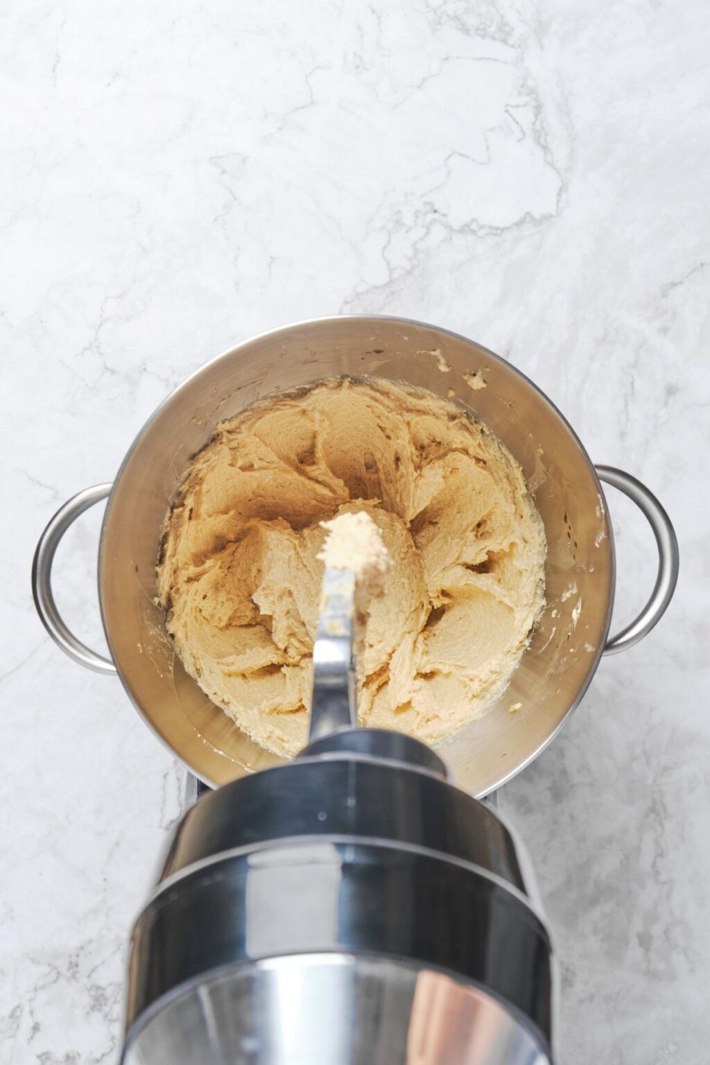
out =
[[[27,0],[0,16],[0,1060],[115,1062],[182,773],[29,592],[56,507],[234,342],[382,312],[530,375],[674,519],[659,627],[500,793],[562,968],[566,1065],[706,1065],[710,7]],[[615,621],[650,532],[609,492]],[[57,599],[100,642],[99,513]],[[703,609],[705,608],[705,609]]]

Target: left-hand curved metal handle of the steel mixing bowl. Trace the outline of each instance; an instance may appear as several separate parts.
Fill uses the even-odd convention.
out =
[[[56,608],[52,593],[52,562],[62,537],[80,514],[93,507],[95,503],[105,499],[112,488],[113,485],[95,485],[94,488],[85,488],[83,492],[72,496],[56,511],[39,537],[37,550],[34,553],[32,595],[45,628],[69,658],[73,658],[80,666],[86,666],[87,669],[93,669],[97,673],[115,675],[117,670],[110,658],[105,658],[97,651],[92,651],[81,640],[78,640],[73,633],[69,632]]]

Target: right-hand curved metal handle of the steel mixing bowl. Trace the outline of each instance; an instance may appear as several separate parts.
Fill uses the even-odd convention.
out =
[[[665,612],[678,580],[678,538],[671,519],[645,485],[632,477],[630,473],[616,470],[614,466],[598,465],[595,469],[599,480],[617,488],[620,492],[624,492],[629,499],[635,503],[654,530],[658,546],[658,573],[650,599],[638,618],[616,636],[607,640],[604,654],[614,655],[617,651],[626,651],[627,648],[632,648],[634,643],[642,640]]]

